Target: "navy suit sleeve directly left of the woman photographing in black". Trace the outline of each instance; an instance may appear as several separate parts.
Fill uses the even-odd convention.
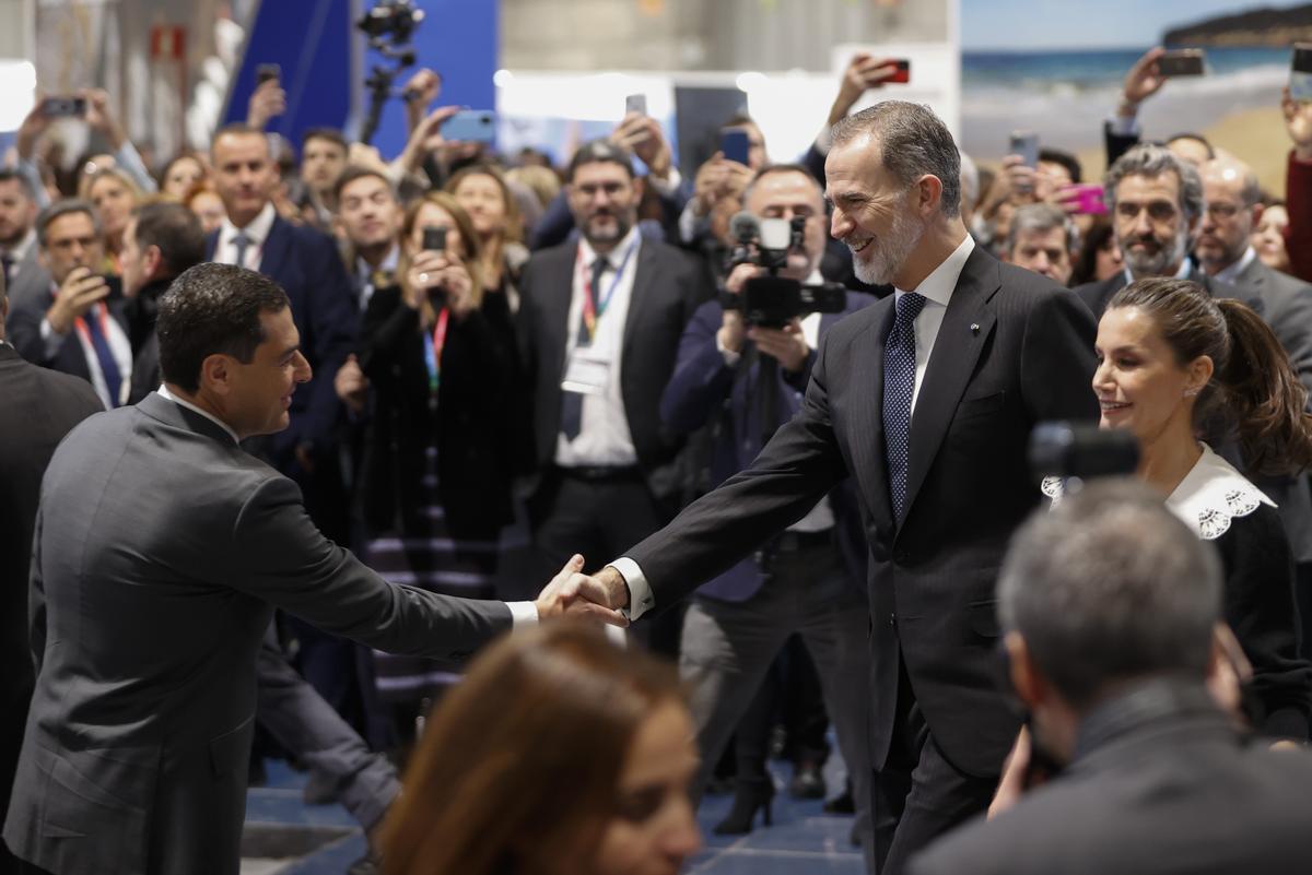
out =
[[[356,350],[359,310],[350,289],[350,278],[336,245],[324,234],[306,234],[306,288],[310,293],[310,320],[314,331],[315,376],[307,386],[310,402],[300,417],[300,439],[320,448],[333,440],[341,402],[333,388],[337,369]]]

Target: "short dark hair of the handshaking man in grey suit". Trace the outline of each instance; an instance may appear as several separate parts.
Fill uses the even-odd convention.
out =
[[[231,355],[249,364],[265,341],[260,314],[285,307],[282,287],[253,270],[205,262],[182,271],[160,297],[156,330],[164,381],[195,392],[209,356]]]

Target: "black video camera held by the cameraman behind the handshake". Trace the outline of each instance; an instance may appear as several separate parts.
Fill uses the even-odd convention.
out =
[[[720,293],[726,310],[741,310],[748,325],[783,327],[807,313],[842,313],[848,309],[848,289],[838,283],[806,284],[779,271],[789,263],[790,251],[804,246],[806,216],[757,219],[740,212],[729,220],[735,248],[729,270],[739,265],[757,265],[768,274],[747,280],[740,295]]]

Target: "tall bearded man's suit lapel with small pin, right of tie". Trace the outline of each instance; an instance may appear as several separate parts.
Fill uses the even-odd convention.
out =
[[[947,303],[947,312],[943,313],[943,324],[938,329],[934,351],[925,369],[925,380],[920,386],[920,397],[916,400],[916,410],[912,413],[903,519],[916,502],[916,494],[938,455],[966,384],[975,373],[980,351],[993,333],[997,316],[989,307],[989,299],[1000,287],[997,262],[976,248],[966,261]]]

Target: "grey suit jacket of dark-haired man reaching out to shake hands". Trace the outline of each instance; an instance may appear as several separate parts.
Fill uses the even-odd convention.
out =
[[[447,659],[512,625],[501,603],[388,584],[290,479],[159,394],[55,452],[30,596],[37,690],[4,840],[60,875],[237,871],[274,606]]]

